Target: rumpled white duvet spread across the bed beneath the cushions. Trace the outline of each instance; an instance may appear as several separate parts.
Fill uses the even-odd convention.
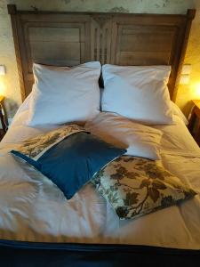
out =
[[[198,195],[180,206],[120,221],[92,184],[66,200],[51,181],[8,153],[50,130],[22,125],[27,115],[20,110],[0,143],[0,239],[200,249],[200,151],[180,117],[175,125],[155,126],[163,134],[161,158]]]

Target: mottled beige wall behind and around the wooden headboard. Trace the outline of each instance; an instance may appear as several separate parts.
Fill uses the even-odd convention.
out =
[[[196,20],[185,60],[192,64],[190,85],[180,85],[177,103],[187,114],[189,100],[197,97],[193,87],[198,82],[200,86],[200,0],[0,0],[0,65],[6,66],[6,76],[0,77],[0,90],[6,96],[8,117],[13,117],[21,100],[12,28],[6,4],[17,4],[18,9],[22,10],[31,10],[31,6],[36,6],[39,10],[83,12],[185,13],[188,8],[196,8]]]

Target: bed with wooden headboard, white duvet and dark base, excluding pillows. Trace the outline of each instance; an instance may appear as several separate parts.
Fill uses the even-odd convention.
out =
[[[195,11],[186,15],[26,12],[17,11],[15,5],[8,5],[8,11],[26,100],[0,143],[3,266],[198,266],[200,152],[175,104],[172,125],[151,126],[162,133],[163,166],[196,190],[196,196],[137,219],[119,220],[92,183],[67,201],[44,175],[8,153],[28,138],[50,131],[44,125],[24,125],[34,83],[33,62],[170,65],[168,88],[174,101]],[[100,116],[102,125],[107,117],[109,124],[112,115]]]

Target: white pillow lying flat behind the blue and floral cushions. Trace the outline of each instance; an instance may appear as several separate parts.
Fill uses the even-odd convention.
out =
[[[84,127],[105,142],[127,149],[126,155],[154,160],[160,158],[160,130],[109,112],[100,112]]]

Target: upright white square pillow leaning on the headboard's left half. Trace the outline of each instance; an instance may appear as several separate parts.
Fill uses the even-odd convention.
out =
[[[29,126],[85,122],[100,112],[100,62],[74,68],[33,65]]]

